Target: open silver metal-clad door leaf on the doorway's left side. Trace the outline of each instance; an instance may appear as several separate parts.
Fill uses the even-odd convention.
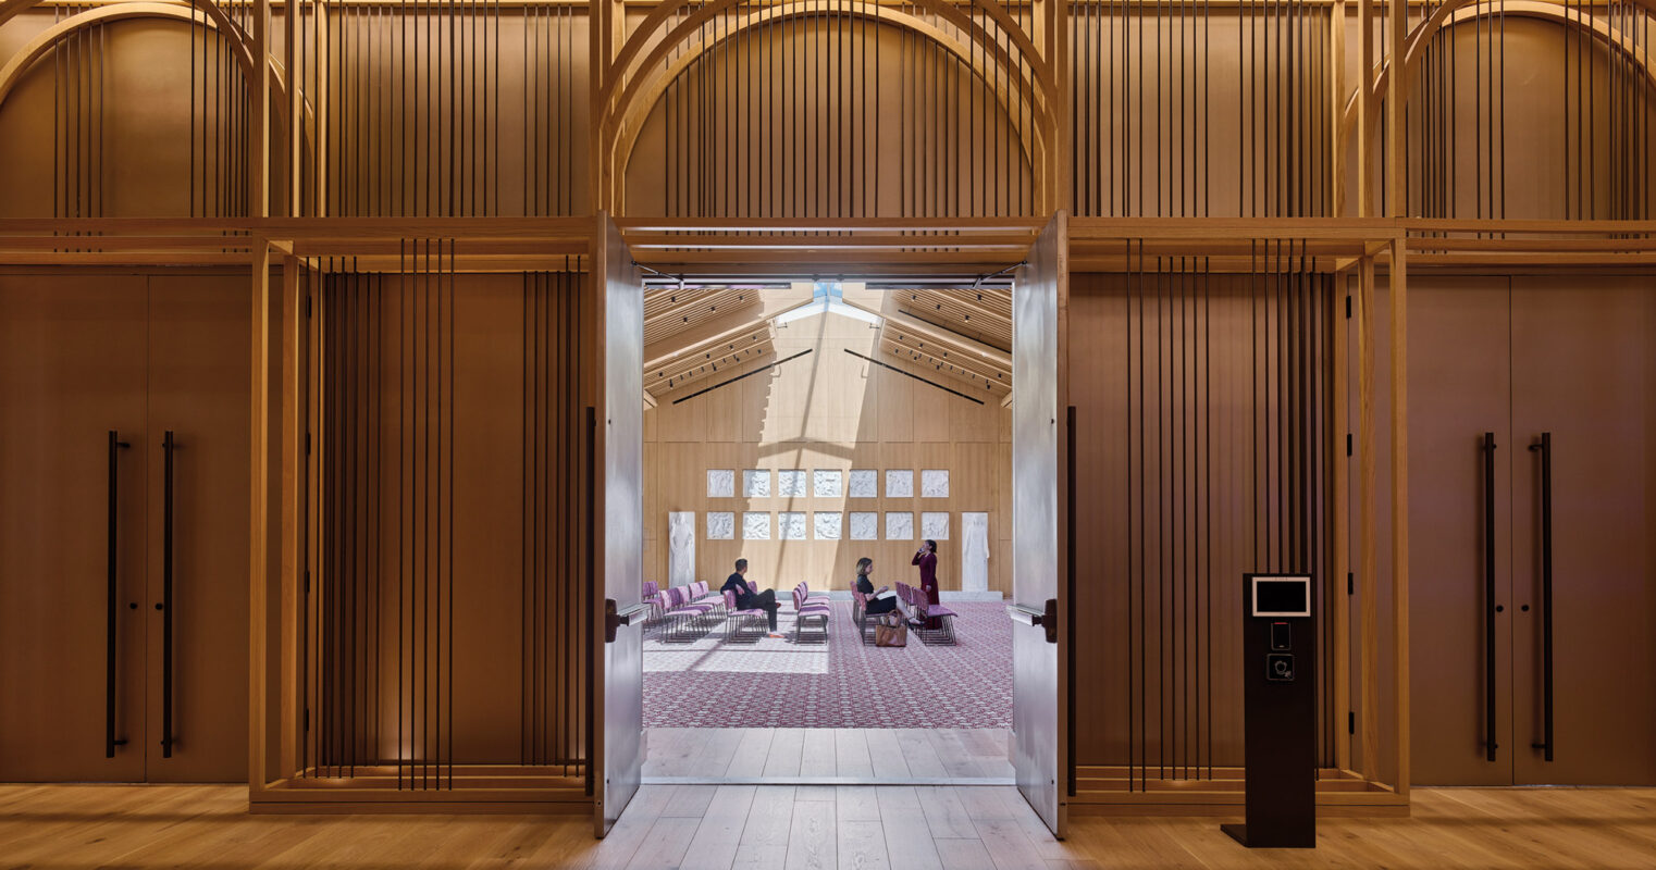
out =
[[[595,655],[593,822],[603,837],[638,792],[644,764],[644,283],[609,215],[598,215],[593,296],[603,361],[588,410],[595,488],[588,543],[601,607]]]

